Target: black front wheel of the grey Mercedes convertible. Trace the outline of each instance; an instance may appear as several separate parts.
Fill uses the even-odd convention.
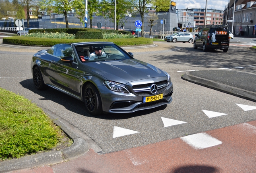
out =
[[[91,83],[85,86],[84,101],[85,108],[91,115],[99,115],[102,113],[102,103],[99,91]]]

